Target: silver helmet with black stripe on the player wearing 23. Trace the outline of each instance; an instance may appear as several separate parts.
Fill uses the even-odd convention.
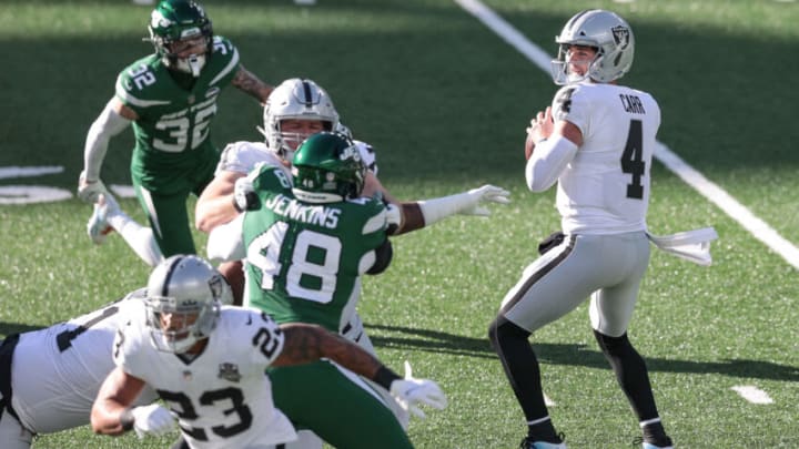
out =
[[[146,325],[153,346],[185,353],[211,335],[221,305],[231,302],[230,285],[208,262],[194,255],[169,257],[150,274],[146,287]]]

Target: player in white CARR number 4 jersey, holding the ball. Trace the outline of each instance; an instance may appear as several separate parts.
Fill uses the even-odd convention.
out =
[[[594,335],[638,418],[644,448],[671,447],[644,359],[627,337],[649,261],[646,212],[660,109],[650,94],[617,84],[635,49],[617,14],[579,12],[555,41],[553,78],[565,85],[527,129],[525,173],[533,192],[557,181],[563,234],[542,245],[506,294],[489,328],[492,345],[527,419],[522,447],[566,447],[549,419],[528,337],[590,296]]]

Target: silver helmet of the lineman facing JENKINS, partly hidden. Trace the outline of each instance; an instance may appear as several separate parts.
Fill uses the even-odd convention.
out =
[[[272,91],[264,106],[264,127],[260,131],[266,137],[266,146],[291,162],[294,151],[309,135],[283,132],[281,122],[286,119],[318,120],[324,123],[324,131],[340,127],[333,100],[324,89],[307,79],[283,81]]]

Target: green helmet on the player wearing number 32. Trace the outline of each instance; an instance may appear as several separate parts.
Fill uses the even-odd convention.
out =
[[[192,0],[162,0],[150,14],[150,40],[166,67],[199,76],[205,54],[213,49],[213,28],[203,8]],[[181,41],[202,38],[205,52],[178,58]]]

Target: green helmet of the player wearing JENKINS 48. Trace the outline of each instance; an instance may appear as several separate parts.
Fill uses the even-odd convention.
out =
[[[294,153],[294,196],[309,203],[335,203],[361,196],[366,165],[353,141],[336,132],[307,137]]]

